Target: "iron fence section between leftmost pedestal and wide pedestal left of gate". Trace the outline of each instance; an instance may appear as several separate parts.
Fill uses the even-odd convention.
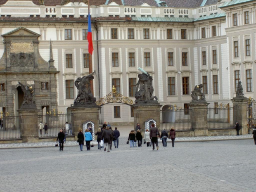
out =
[[[66,135],[73,135],[72,114],[38,115],[38,123],[40,122],[43,123],[43,130],[40,130],[38,125],[39,137],[57,137],[60,129],[63,129]],[[45,129],[45,123],[47,129]]]

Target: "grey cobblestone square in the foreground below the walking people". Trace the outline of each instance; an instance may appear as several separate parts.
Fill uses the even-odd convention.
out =
[[[253,140],[0,150],[1,192],[254,192]]]

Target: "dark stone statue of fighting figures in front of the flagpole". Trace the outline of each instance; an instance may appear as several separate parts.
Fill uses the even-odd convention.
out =
[[[78,95],[74,101],[74,106],[93,104],[96,102],[96,97],[93,97],[90,86],[90,81],[94,79],[93,74],[96,74],[95,72],[96,71],[76,79],[75,86],[78,89]]]

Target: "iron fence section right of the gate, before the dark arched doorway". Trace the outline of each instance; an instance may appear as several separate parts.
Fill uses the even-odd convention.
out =
[[[192,129],[192,119],[190,114],[192,109],[168,109],[160,111],[160,129],[170,130],[190,130]]]

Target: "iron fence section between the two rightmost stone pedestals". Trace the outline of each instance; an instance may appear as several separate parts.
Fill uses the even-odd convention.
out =
[[[219,105],[207,109],[208,129],[234,128],[234,107]]]

